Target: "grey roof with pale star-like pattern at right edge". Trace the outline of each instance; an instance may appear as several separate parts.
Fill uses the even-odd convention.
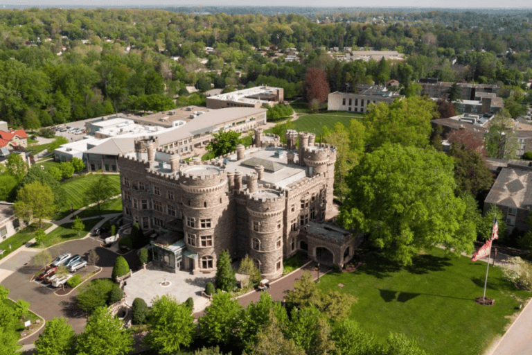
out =
[[[502,168],[484,202],[530,209],[532,207],[532,171],[522,168]]]

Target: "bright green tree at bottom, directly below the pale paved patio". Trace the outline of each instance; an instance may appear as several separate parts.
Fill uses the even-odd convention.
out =
[[[186,304],[178,304],[171,295],[154,298],[148,324],[150,334],[144,341],[159,354],[176,354],[192,342],[194,317]]]

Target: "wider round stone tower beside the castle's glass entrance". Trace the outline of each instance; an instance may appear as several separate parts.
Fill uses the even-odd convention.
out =
[[[196,162],[195,162],[196,163]],[[186,248],[197,258],[185,258],[185,268],[194,274],[216,268],[217,255],[222,250],[233,254],[227,173],[223,164],[193,164],[179,171],[183,230]],[[188,263],[188,264],[187,264]]]

